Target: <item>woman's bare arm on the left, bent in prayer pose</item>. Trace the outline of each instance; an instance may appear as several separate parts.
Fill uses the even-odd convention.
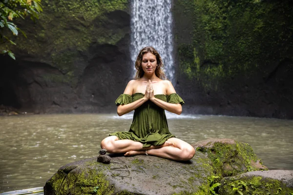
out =
[[[134,85],[135,85],[135,80],[130,80],[124,90],[124,94],[128,94],[128,95],[132,96]],[[117,107],[118,116],[125,115],[125,114],[135,110],[136,108],[141,106],[143,103],[145,103],[147,100],[148,100],[148,97],[146,97],[146,95],[145,95],[144,98],[140,98],[140,99],[138,99],[134,102],[131,102],[129,104],[119,105]]]

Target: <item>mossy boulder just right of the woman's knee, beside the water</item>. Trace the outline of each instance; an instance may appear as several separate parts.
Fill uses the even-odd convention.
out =
[[[199,141],[192,146],[209,156],[215,174],[222,178],[248,171],[267,170],[247,143],[233,139],[212,138]]]

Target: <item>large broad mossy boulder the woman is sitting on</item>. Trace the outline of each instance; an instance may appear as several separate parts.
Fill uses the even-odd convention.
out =
[[[190,161],[156,156],[112,156],[110,164],[97,158],[61,167],[44,186],[45,195],[174,195],[209,191],[210,160],[197,153]]]

